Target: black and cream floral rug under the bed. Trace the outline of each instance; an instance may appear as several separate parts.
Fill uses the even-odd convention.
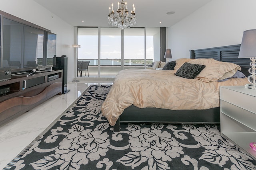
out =
[[[111,85],[92,85],[4,170],[255,170],[217,125],[121,124],[101,114]]]

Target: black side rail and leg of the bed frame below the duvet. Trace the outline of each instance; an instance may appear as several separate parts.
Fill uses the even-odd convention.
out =
[[[159,108],[138,108],[134,105],[124,112],[114,125],[114,132],[120,131],[120,123],[220,123],[220,107],[205,110],[170,110]]]

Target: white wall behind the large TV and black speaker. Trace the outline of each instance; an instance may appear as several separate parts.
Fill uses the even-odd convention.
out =
[[[57,34],[56,55],[67,55],[68,82],[73,80],[75,51],[71,45],[75,42],[75,28],[72,25],[61,20],[33,0],[1,0],[0,10]]]

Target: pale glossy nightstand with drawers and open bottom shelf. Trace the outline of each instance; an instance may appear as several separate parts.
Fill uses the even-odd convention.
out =
[[[256,142],[256,90],[244,86],[220,87],[221,135],[256,160],[256,151],[249,146]]]

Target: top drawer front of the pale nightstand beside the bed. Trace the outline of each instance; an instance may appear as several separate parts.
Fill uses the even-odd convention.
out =
[[[255,113],[256,98],[254,96],[226,88],[220,88],[220,100],[224,100],[230,104]]]

